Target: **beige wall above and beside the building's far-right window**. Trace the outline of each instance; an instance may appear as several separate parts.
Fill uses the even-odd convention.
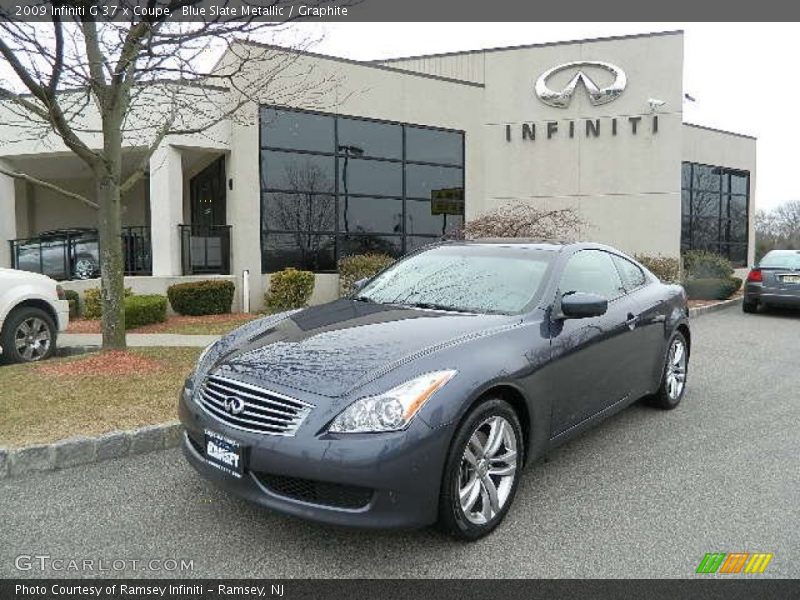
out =
[[[683,160],[750,172],[747,211],[747,263],[755,262],[756,139],[754,137],[684,124]]]

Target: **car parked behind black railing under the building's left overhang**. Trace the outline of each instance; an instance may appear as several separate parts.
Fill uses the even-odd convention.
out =
[[[91,279],[100,275],[97,230],[53,229],[17,246],[16,267],[54,279]]]

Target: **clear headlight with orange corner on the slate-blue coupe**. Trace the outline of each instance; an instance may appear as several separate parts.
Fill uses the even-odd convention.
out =
[[[333,420],[333,433],[370,433],[404,429],[428,399],[457,371],[426,373],[378,396],[356,400]]]

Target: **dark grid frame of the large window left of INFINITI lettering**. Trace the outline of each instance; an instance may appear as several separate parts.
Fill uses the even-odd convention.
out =
[[[422,233],[415,233],[415,232],[408,232],[407,231],[407,220],[408,220],[408,208],[407,202],[411,200],[424,200],[421,198],[411,198],[407,195],[407,166],[409,165],[420,165],[420,166],[432,166],[432,167],[446,167],[448,169],[459,170],[461,174],[460,178],[460,187],[461,189],[466,188],[466,132],[461,129],[451,129],[447,127],[440,127],[435,125],[423,125],[417,123],[407,123],[403,121],[394,121],[389,119],[377,119],[372,117],[362,117],[358,115],[351,115],[351,114],[341,114],[341,113],[329,113],[319,110],[312,110],[312,109],[304,109],[304,108],[296,108],[291,106],[285,105],[277,105],[277,104],[260,104],[259,105],[259,124],[258,124],[258,164],[259,164],[259,210],[260,210],[260,221],[259,221],[259,228],[260,228],[260,245],[261,245],[261,270],[262,273],[270,273],[272,272],[270,268],[267,266],[267,260],[265,258],[265,249],[266,244],[265,240],[268,238],[270,234],[287,234],[287,233],[297,233],[295,230],[273,230],[266,228],[266,223],[264,221],[264,201],[263,198],[266,194],[270,193],[304,193],[303,190],[283,190],[278,188],[273,188],[267,185],[267,181],[265,180],[265,168],[262,159],[262,153],[265,151],[278,151],[283,153],[294,153],[294,154],[306,154],[306,155],[314,155],[314,156],[328,156],[333,157],[334,159],[334,188],[331,192],[325,192],[325,194],[332,194],[334,196],[334,211],[335,211],[335,225],[334,225],[334,232],[333,235],[335,236],[335,261],[338,260],[343,256],[341,254],[341,250],[344,247],[344,240],[345,238],[352,238],[356,236],[376,236],[376,237],[399,237],[400,238],[400,256],[404,256],[411,251],[414,251],[414,248],[411,247],[409,243],[410,238],[414,238],[417,242],[420,239],[427,239],[430,243],[436,242],[442,239],[443,234],[422,234]],[[315,151],[315,150],[294,150],[291,148],[284,148],[280,146],[273,146],[265,144],[264,140],[264,127],[262,126],[262,114],[265,111],[275,111],[279,113],[281,111],[288,112],[288,113],[305,113],[305,114],[312,114],[312,115],[320,115],[325,117],[330,117],[333,119],[333,148],[334,152],[327,152],[327,151]],[[369,232],[345,232],[341,230],[340,226],[340,216],[341,216],[341,207],[340,203],[343,201],[344,194],[341,189],[341,182],[340,182],[340,162],[343,161],[345,157],[344,152],[339,151],[339,124],[341,119],[347,119],[352,121],[362,121],[362,122],[371,122],[371,123],[378,123],[378,124],[386,124],[386,125],[395,125],[400,127],[401,129],[401,138],[402,138],[402,154],[401,157],[398,158],[390,158],[390,157],[379,157],[379,156],[367,156],[366,154],[363,156],[359,156],[359,159],[364,160],[372,160],[372,161],[381,161],[387,163],[395,163],[401,165],[401,179],[402,179],[402,190],[400,195],[385,195],[385,194],[374,194],[374,193],[353,193],[348,192],[347,196],[349,198],[374,198],[376,200],[381,199],[390,199],[390,200],[401,200],[402,202],[402,223],[400,232],[394,231],[369,231]],[[460,164],[456,163],[439,163],[439,162],[429,162],[429,161],[419,161],[419,160],[408,160],[406,156],[406,136],[407,131],[409,128],[415,129],[426,129],[430,131],[438,131],[447,134],[456,134],[461,138],[461,156],[460,156]],[[352,155],[351,155],[352,156]],[[309,193],[305,191],[305,193]],[[322,193],[322,192],[314,192],[314,193]],[[432,199],[427,199],[428,201],[432,201]],[[444,218],[444,225],[443,231],[446,231],[449,224],[447,223],[447,217],[451,215],[442,215]],[[464,215],[452,215],[452,216],[459,216],[461,219],[461,223],[463,224]],[[312,235],[330,235],[331,232],[329,231],[303,231],[303,234],[312,234]],[[416,247],[419,247],[419,244],[415,244]],[[315,271],[318,273],[330,273],[336,272],[335,269],[333,270],[325,270],[325,271]]]

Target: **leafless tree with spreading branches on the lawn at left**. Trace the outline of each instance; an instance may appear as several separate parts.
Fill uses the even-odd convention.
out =
[[[117,14],[127,8],[128,16],[104,21],[93,16],[108,6],[102,0],[46,0],[49,23],[15,20],[0,8],[0,66],[13,73],[0,79],[6,125],[16,126],[20,137],[55,139],[66,146],[89,166],[96,194],[84,197],[29,173],[0,172],[97,209],[105,348],[125,346],[121,195],[147,172],[158,147],[169,136],[214,135],[222,121],[248,118],[244,105],[265,90],[276,103],[298,95],[313,103],[330,83],[312,78],[313,67],[301,66],[300,54],[252,43],[285,32],[286,22],[240,15],[177,20],[183,7],[202,2],[121,0],[114,3]],[[248,5],[269,10],[293,2],[251,0]],[[65,6],[83,10],[64,16],[57,9]],[[134,16],[142,7],[166,8],[169,14]],[[210,58],[216,55],[224,59],[213,64]],[[137,164],[132,172],[125,170],[124,178],[123,147],[137,149]]]

